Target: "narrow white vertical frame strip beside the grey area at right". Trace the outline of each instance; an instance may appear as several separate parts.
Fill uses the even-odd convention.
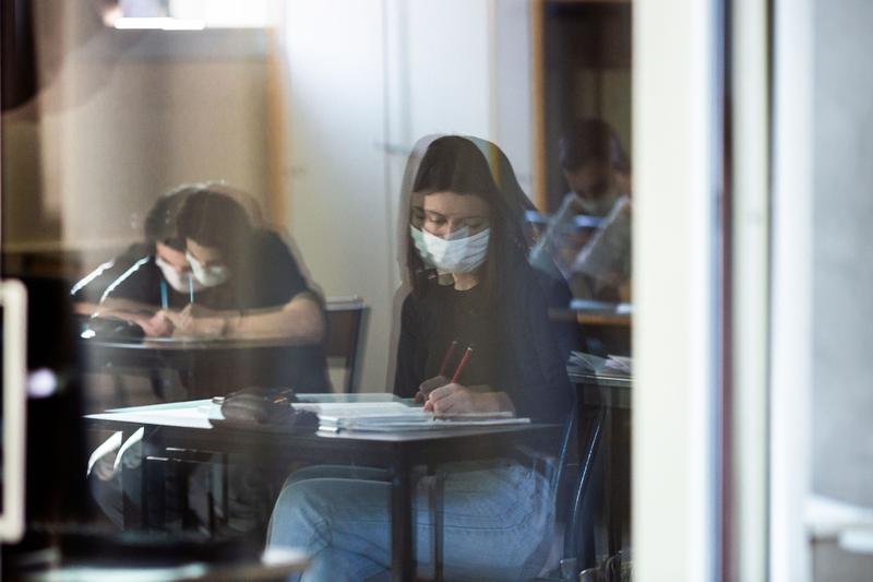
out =
[[[813,8],[775,0],[774,10],[769,574],[791,582],[811,578]]]

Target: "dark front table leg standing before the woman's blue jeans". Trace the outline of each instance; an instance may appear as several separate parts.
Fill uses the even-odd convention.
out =
[[[412,483],[405,451],[394,454],[391,477],[391,579],[412,582],[416,577],[412,537]]]

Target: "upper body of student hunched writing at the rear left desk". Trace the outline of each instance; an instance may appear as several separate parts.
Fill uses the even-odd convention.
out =
[[[321,301],[278,235],[218,191],[171,200],[159,217],[175,236],[107,286],[99,314],[130,318],[146,335],[321,340]]]

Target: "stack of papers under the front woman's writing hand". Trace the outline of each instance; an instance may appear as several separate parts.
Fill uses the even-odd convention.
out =
[[[319,415],[319,430],[366,430],[403,432],[409,430],[451,430],[458,428],[529,424],[512,413],[465,413],[436,416],[420,406],[402,402],[296,403],[295,408]]]

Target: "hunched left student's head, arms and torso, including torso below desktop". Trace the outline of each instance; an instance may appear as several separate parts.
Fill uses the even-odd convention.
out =
[[[163,228],[155,229],[154,253],[106,286],[95,313],[132,320],[150,336],[282,344],[198,359],[186,375],[190,395],[252,384],[327,390],[323,301],[282,238],[254,222],[258,210],[243,206],[246,200],[251,198],[217,185],[163,199],[150,213]]]

